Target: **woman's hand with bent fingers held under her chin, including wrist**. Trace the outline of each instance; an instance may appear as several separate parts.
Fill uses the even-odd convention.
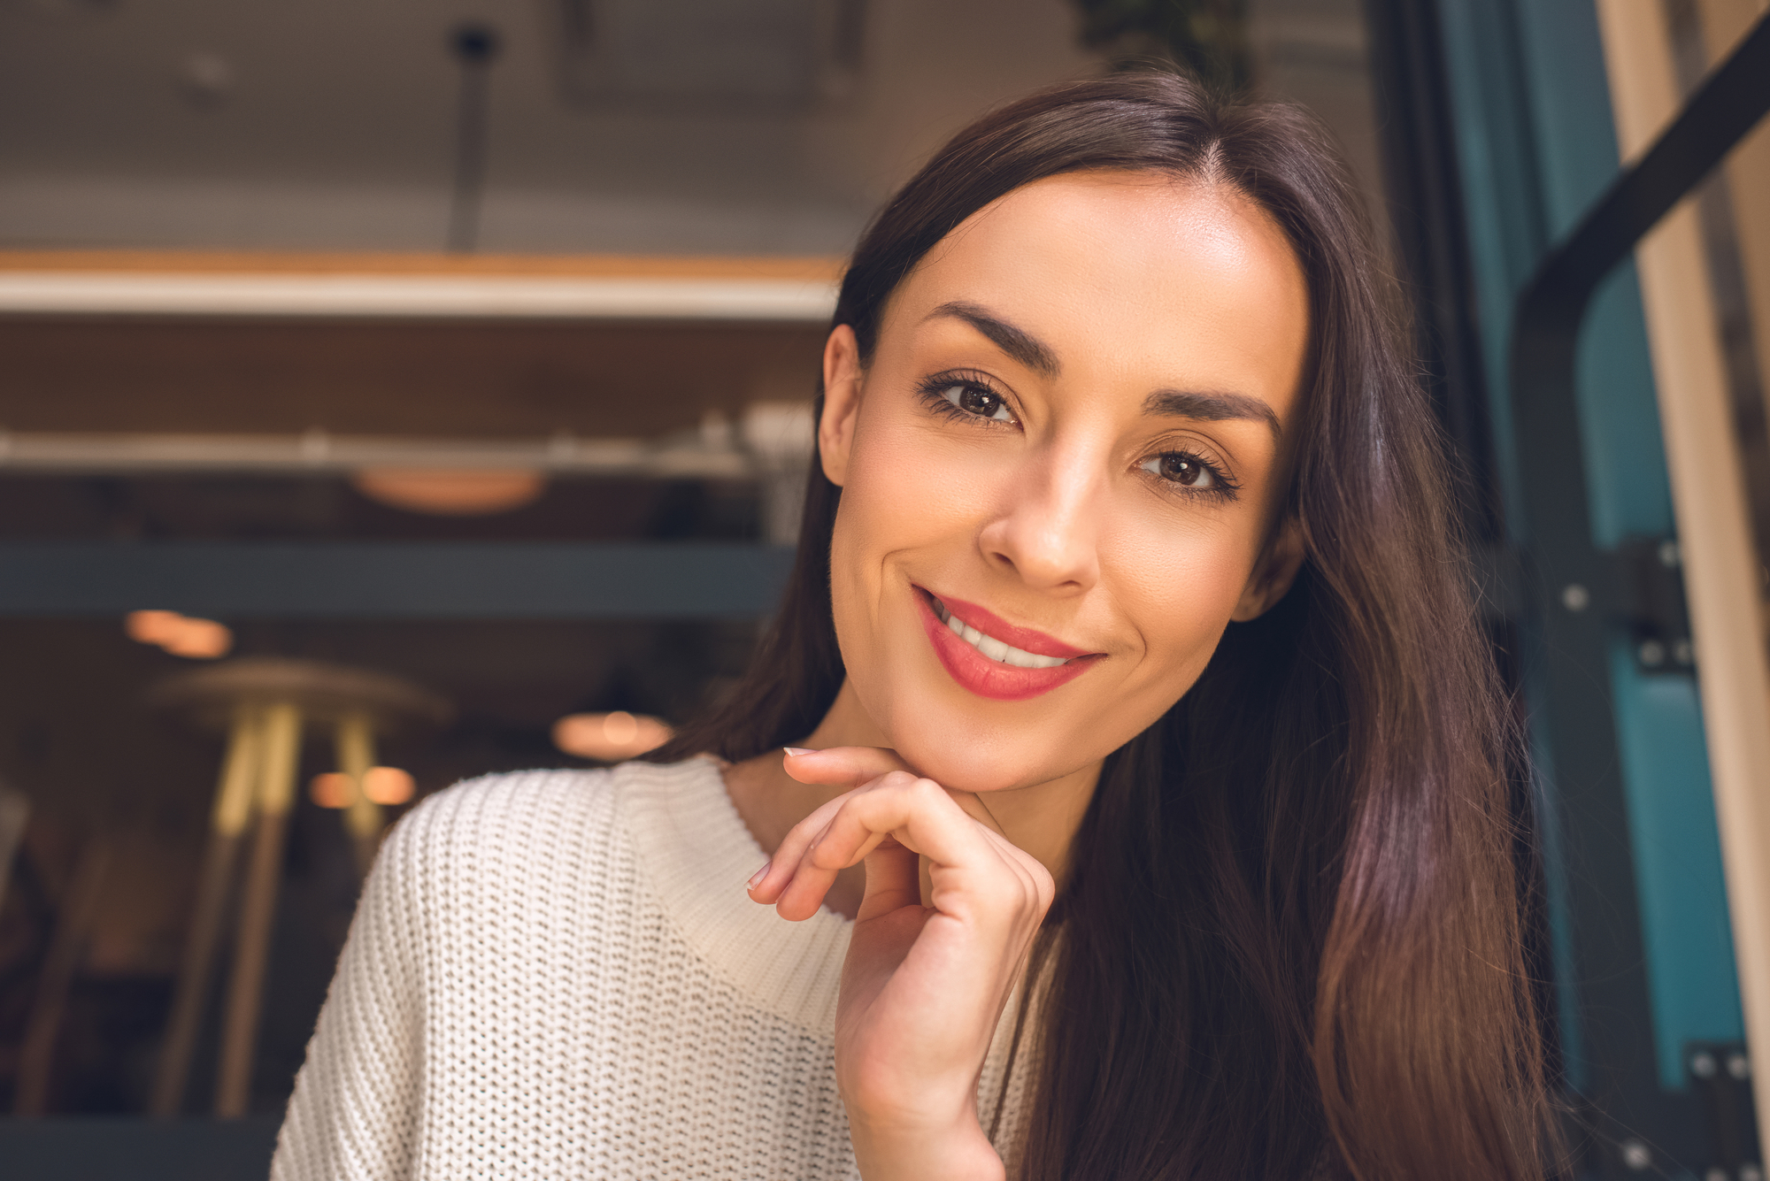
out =
[[[786,771],[853,789],[788,833],[750,896],[805,919],[839,870],[866,861],[835,1010],[835,1077],[862,1176],[1000,1179],[977,1078],[1051,905],[1051,875],[977,796],[917,776],[889,750],[788,755]]]

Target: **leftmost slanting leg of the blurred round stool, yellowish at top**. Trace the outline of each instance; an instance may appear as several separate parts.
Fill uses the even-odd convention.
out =
[[[221,783],[216,789],[214,813],[209,822],[209,847],[204,852],[191,926],[184,939],[184,964],[179,967],[166,1040],[154,1073],[154,1093],[149,1100],[149,1112],[154,1116],[177,1116],[184,1109],[184,1089],[191,1073],[191,1055],[196,1050],[204,1006],[209,1001],[216,948],[221,942],[228,900],[235,889],[234,879],[239,870],[246,824],[251,820],[262,744],[264,718],[260,711],[241,705],[234,716],[227,758],[221,764]]]

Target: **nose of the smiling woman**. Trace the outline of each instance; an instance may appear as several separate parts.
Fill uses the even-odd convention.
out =
[[[1099,520],[1104,465],[1097,456],[1035,451],[984,525],[984,560],[1035,590],[1080,594],[1099,582]]]

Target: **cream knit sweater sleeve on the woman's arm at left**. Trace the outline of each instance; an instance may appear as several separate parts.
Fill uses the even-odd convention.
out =
[[[423,1071],[425,813],[382,843],[276,1137],[273,1181],[414,1174]]]

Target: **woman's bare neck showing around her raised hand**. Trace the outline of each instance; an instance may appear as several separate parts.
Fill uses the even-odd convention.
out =
[[[811,750],[890,746],[890,739],[867,714],[853,684],[844,681],[830,712],[796,746]],[[1069,847],[1076,829],[1081,827],[1089,801],[1094,799],[1099,773],[1101,764],[1094,762],[1044,783],[981,792],[977,799],[982,801],[1007,840],[1037,857],[1051,872],[1051,877],[1062,882],[1069,868]],[[781,845],[795,824],[844,790],[800,783],[781,767],[779,751],[768,751],[731,767],[726,773],[726,787],[738,815],[768,852]],[[848,880],[837,882],[837,889],[830,891],[828,905],[853,918],[866,888],[866,873],[860,866],[844,873]]]

